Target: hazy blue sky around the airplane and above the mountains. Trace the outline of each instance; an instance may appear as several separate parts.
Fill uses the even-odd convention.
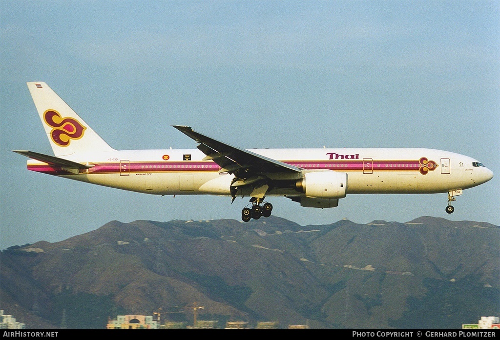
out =
[[[0,1],[0,249],[110,220],[239,219],[247,199],[149,196],[26,170],[51,154],[26,87],[45,81],[115,149],[425,147],[493,171],[464,191],[270,198],[300,224],[427,215],[500,225],[498,1]],[[260,220],[259,220],[260,221]]]

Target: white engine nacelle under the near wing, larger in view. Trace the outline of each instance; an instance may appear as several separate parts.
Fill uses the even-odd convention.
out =
[[[306,197],[338,199],[345,197],[347,174],[336,171],[307,172],[295,183],[297,191]]]

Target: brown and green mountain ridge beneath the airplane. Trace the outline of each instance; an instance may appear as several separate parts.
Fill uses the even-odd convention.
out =
[[[450,320],[456,328],[498,314],[499,232],[433,217],[306,226],[275,216],[246,224],[110,221],[63,241],[2,251],[0,295],[2,309],[51,327],[60,325],[63,309],[78,328],[158,308],[190,322],[184,307],[196,302],[205,307],[200,317],[219,324],[272,320],[282,328],[305,320],[313,328],[412,328],[411,313],[442,304],[452,306],[451,317],[436,328]],[[461,311],[463,295],[480,306]],[[91,306],[101,307],[83,322]]]

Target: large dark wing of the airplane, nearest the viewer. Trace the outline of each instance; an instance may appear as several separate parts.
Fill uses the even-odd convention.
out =
[[[220,171],[227,171],[230,174],[235,173],[240,178],[266,173],[287,173],[296,175],[297,178],[301,176],[300,169],[295,166],[222,143],[193,131],[189,126],[172,126],[198,142],[197,148],[206,155],[203,160],[213,160],[222,168]]]

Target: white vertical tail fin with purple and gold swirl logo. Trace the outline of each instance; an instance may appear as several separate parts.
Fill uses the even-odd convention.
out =
[[[114,150],[46,83],[27,85],[55,156]]]

